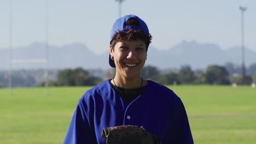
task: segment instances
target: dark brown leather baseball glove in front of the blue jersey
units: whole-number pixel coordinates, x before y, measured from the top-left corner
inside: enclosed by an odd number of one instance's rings
[[[116,127],[103,128],[101,136],[107,144],[160,144],[156,135],[151,134],[143,127],[135,125],[120,125]]]

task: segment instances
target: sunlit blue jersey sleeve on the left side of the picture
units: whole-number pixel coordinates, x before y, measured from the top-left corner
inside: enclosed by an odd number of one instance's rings
[[[89,122],[84,109],[86,109],[86,105],[82,105],[79,100],[63,143],[92,143]]]

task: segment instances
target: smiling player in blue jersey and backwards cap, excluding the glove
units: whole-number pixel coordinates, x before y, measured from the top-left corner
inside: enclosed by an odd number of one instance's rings
[[[146,23],[136,15],[115,21],[109,45],[115,76],[79,100],[64,143],[106,143],[102,129],[117,125],[143,126],[162,143],[193,143],[181,99],[141,77],[151,40]]]

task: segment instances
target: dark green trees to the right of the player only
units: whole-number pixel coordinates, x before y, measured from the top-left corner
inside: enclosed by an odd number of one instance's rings
[[[148,71],[155,71],[148,73]],[[167,73],[160,73],[156,67],[147,66],[142,70],[142,77],[144,79],[151,79],[163,85],[230,85],[236,83],[241,85],[242,75],[230,75],[229,71],[220,65],[209,65],[205,70],[193,71],[189,65],[183,65],[178,70],[168,71]],[[246,76],[246,85],[256,82],[256,74],[253,76]]]

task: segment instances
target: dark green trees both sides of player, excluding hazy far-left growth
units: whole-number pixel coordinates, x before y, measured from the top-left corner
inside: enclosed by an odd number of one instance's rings
[[[256,64],[255,64],[256,66]],[[256,67],[255,67],[256,68]],[[235,71],[233,71],[235,72]],[[56,81],[50,81],[50,86],[93,86],[106,79],[112,79],[115,69],[106,71],[104,78],[89,75],[83,68],[65,69],[59,71]],[[157,67],[147,65],[141,70],[145,80],[153,80],[162,85],[241,85],[241,74],[230,75],[229,70],[221,65],[209,65],[205,70],[192,70],[189,65],[183,65],[178,70],[161,71]],[[256,71],[253,76],[246,76],[246,85],[256,82]]]

